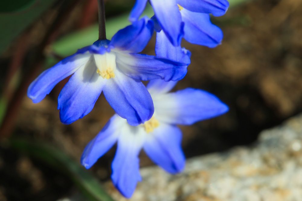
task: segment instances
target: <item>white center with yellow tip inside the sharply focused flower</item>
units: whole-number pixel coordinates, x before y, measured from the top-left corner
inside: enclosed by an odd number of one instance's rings
[[[94,54],[94,61],[97,67],[96,72],[104,79],[114,78],[116,69],[115,54],[105,53],[103,55]]]

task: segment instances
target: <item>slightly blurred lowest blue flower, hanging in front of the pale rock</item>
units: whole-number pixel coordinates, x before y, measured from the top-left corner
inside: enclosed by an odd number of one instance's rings
[[[191,125],[228,111],[217,97],[203,90],[187,88],[168,93],[175,84],[175,81],[151,80],[147,88],[153,98],[153,117],[144,124],[131,126],[114,115],[83,152],[81,163],[90,168],[117,142],[111,179],[127,198],[141,181],[138,157],[141,149],[165,171],[176,174],[183,170],[185,156],[181,148],[182,132],[175,125]]]

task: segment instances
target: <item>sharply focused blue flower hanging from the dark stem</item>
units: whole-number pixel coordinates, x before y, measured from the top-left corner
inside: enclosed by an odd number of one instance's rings
[[[153,21],[144,17],[118,31],[109,40],[100,40],[79,49],[50,69],[28,88],[27,96],[40,102],[53,87],[73,74],[58,97],[60,119],[71,124],[87,115],[101,92],[130,125],[149,120],[154,111],[151,96],[140,80],[180,80],[188,64],[137,54],[153,34]]]

